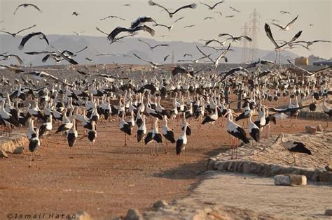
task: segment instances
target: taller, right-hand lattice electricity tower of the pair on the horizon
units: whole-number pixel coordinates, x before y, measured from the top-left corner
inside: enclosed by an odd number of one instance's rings
[[[250,52],[250,59],[251,61],[254,61],[256,59],[258,59],[258,53],[257,53],[257,49],[258,49],[258,32],[259,32],[259,27],[260,27],[260,23],[259,23],[259,19],[261,18],[261,15],[257,13],[256,8],[254,8],[254,12],[250,14],[250,32],[251,32],[251,39],[252,39],[252,43],[251,43],[251,52]]]

